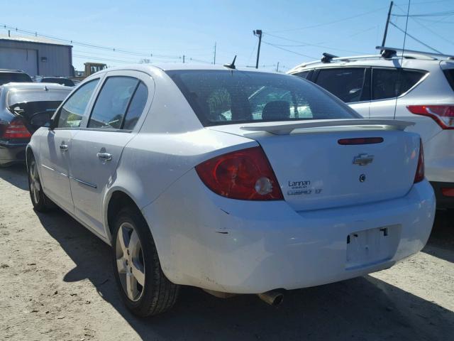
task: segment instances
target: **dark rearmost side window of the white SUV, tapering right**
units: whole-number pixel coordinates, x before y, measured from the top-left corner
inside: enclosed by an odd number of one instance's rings
[[[400,96],[410,90],[425,72],[402,69],[372,70],[372,99],[387,99]]]

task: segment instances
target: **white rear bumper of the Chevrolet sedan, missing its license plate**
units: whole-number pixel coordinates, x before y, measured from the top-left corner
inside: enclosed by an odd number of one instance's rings
[[[226,199],[211,193],[192,171],[144,207],[143,214],[170,281],[262,293],[389,268],[426,244],[435,203],[431,185],[423,180],[399,199],[295,212],[285,201]],[[348,235],[380,227],[392,227],[387,255],[348,261]]]

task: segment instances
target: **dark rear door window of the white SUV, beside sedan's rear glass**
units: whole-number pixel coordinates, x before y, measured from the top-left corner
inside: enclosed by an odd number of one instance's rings
[[[334,94],[343,102],[360,102],[364,86],[365,68],[343,67],[321,69],[316,84]]]

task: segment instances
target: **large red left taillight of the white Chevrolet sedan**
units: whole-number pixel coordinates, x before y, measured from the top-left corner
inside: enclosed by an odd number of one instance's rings
[[[218,195],[240,200],[282,200],[270,162],[260,147],[233,151],[196,166],[206,187]]]

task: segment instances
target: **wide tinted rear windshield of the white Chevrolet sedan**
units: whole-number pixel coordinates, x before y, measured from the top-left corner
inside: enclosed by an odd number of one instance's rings
[[[359,114],[300,77],[239,70],[167,71],[204,126],[353,119]]]

